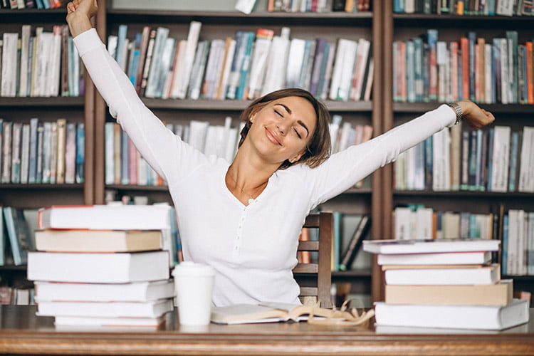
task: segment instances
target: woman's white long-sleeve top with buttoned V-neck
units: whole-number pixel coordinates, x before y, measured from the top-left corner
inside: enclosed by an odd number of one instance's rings
[[[112,117],[167,182],[184,260],[215,268],[216,306],[266,300],[300,303],[291,270],[310,210],[455,120],[453,110],[441,105],[332,155],[317,168],[296,164],[278,170],[255,201],[245,206],[226,187],[230,163],[204,155],[167,130],[142,103],[94,28],[74,42]]]

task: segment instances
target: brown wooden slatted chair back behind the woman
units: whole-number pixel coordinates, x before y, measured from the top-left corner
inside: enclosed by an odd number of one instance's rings
[[[318,229],[318,241],[299,241],[298,251],[318,251],[318,263],[298,263],[293,275],[300,285],[300,297],[307,301],[320,301],[323,308],[332,308],[331,254],[333,240],[333,214],[321,211],[306,217],[304,226]],[[309,286],[311,285],[311,286]]]

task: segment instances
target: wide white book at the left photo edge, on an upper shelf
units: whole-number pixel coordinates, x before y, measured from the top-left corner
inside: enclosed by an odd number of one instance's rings
[[[4,32],[1,58],[0,96],[16,96],[19,33]]]

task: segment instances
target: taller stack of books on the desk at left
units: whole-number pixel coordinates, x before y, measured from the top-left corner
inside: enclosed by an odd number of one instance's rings
[[[51,206],[28,253],[38,315],[56,325],[157,326],[174,308],[169,206]]]

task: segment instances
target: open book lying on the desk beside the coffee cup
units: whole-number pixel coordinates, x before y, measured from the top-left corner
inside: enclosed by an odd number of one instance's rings
[[[277,323],[308,320],[313,316],[328,318],[333,310],[290,303],[262,302],[211,308],[211,322],[217,324]]]

